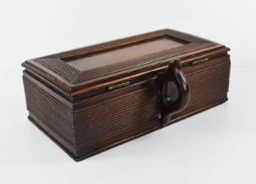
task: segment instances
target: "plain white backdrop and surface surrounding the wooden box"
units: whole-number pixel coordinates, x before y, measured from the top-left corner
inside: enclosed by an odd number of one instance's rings
[[[1,0],[0,183],[256,183],[256,4]],[[75,162],[27,120],[27,59],[172,28],[231,47],[228,103]]]

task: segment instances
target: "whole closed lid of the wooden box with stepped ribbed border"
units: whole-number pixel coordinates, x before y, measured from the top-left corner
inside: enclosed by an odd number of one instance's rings
[[[186,62],[198,53],[217,49],[227,50],[209,40],[166,29],[26,60],[22,66],[68,96],[79,96],[88,88],[165,67],[173,58]]]

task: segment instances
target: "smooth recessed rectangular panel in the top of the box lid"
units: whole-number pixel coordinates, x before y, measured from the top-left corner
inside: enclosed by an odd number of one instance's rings
[[[126,46],[118,46],[107,51],[103,50],[101,53],[92,53],[81,56],[78,55],[76,57],[64,58],[62,60],[66,61],[68,65],[83,72],[98,67],[112,65],[122,60],[132,60],[144,55],[158,53],[170,48],[183,46],[187,43],[177,39],[174,40],[171,37],[162,36],[157,39],[141,41],[140,43],[137,42]]]

